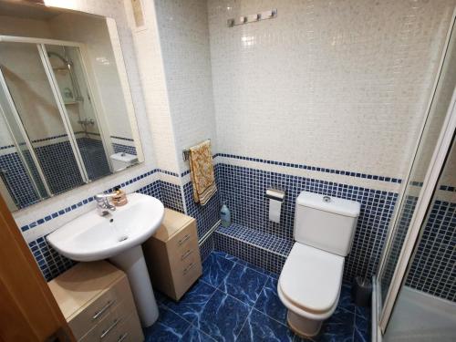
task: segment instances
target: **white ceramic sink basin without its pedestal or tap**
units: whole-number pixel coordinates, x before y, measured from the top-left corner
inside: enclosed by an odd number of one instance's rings
[[[129,202],[101,217],[87,212],[56,232],[47,241],[58,253],[76,261],[108,259],[142,244],[160,227],[163,204],[154,197],[131,193]]]

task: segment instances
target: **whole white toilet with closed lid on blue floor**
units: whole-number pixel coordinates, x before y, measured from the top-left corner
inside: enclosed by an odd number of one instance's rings
[[[288,325],[300,336],[316,336],[336,310],[360,207],[313,192],[301,192],[296,199],[295,244],[277,292],[288,309]]]

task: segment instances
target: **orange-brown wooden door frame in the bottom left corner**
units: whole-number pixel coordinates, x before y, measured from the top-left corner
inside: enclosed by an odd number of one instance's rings
[[[0,303],[0,342],[76,341],[1,195]]]

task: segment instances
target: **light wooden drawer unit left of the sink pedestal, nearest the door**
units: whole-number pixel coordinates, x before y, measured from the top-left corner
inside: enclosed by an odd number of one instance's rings
[[[144,340],[129,280],[112,264],[79,263],[48,285],[78,341]]]

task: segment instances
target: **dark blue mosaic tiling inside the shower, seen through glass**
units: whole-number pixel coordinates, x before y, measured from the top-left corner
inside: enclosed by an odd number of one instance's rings
[[[454,171],[454,169],[452,170]],[[418,193],[420,188],[417,187],[414,190]],[[388,263],[380,278],[383,296],[389,289],[417,200],[418,196],[407,196],[399,215],[399,224],[390,244]],[[422,229],[416,254],[412,256],[409,265],[406,285],[456,302],[456,275],[454,273],[456,264],[454,250],[456,188],[454,186],[441,185],[440,189],[435,192]]]

